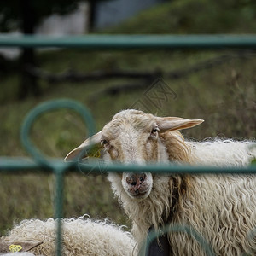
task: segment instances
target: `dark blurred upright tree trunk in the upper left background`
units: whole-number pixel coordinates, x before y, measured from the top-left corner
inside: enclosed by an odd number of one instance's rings
[[[34,10],[32,0],[20,0],[20,10],[22,11],[21,29],[23,34],[34,33]],[[20,55],[20,89],[19,99],[24,99],[30,93],[32,96],[39,96],[38,79],[27,73],[27,67],[35,66],[35,54],[33,48],[23,48]]]

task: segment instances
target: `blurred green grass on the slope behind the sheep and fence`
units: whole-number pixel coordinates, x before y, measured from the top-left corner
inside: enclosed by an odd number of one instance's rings
[[[109,33],[220,33],[255,32],[256,11],[253,1],[179,0],[149,9],[137,17],[108,29]],[[196,63],[216,60],[227,55],[225,61],[202,68],[201,71],[171,79],[163,75],[166,86],[175,96],[158,101],[150,98],[159,93],[159,83],[148,92],[145,89],[120,94],[100,94],[113,85],[135,84],[133,79],[108,79],[90,83],[47,84],[40,81],[44,95],[16,101],[19,75],[9,71],[1,74],[0,88],[0,155],[26,156],[20,145],[20,125],[26,113],[39,102],[56,98],[72,98],[83,102],[96,120],[98,130],[120,109],[130,108],[140,100],[148,111],[159,115],[205,119],[203,125],[184,131],[186,137],[255,137],[255,52],[239,50],[129,50],[89,52],[83,49],[61,49],[38,52],[38,62],[44,70],[61,73],[73,68],[79,72],[96,70],[154,72],[186,70]],[[13,66],[12,66],[13,67]],[[148,94],[149,93],[149,94]],[[148,97],[152,102],[148,102]],[[158,95],[160,96],[160,95]],[[163,94],[161,94],[163,97]],[[135,104],[136,105],[136,104]],[[144,107],[143,107],[144,106]],[[64,156],[82,143],[86,127],[79,117],[67,110],[48,113],[38,119],[32,129],[32,141],[50,157]],[[26,175],[0,174],[0,233],[22,218],[53,217],[55,194],[54,177],[39,172]],[[110,218],[127,224],[125,213],[113,199],[105,176],[69,174],[65,177],[65,217],[85,213],[92,218]]]

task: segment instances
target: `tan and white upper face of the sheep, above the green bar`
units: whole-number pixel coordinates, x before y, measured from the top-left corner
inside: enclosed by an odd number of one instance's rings
[[[133,119],[119,115],[102,129],[101,144],[106,158],[138,165],[158,160],[159,127],[154,119],[142,119],[139,114]]]

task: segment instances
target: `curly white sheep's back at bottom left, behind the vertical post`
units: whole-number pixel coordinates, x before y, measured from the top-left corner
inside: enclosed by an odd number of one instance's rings
[[[9,245],[17,244],[34,255],[55,255],[56,224],[53,218],[45,221],[26,219],[15,225],[0,240],[0,254],[9,252]],[[133,255],[136,252],[131,233],[109,221],[90,218],[64,218],[62,224],[62,255]],[[30,246],[30,247],[29,247]],[[2,250],[1,250],[2,249]],[[21,256],[22,254],[20,254]],[[18,254],[17,254],[18,256]],[[26,253],[24,254],[26,256]],[[31,256],[27,254],[27,256]]]

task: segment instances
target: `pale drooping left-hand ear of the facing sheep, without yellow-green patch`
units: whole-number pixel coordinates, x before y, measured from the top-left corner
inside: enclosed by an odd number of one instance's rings
[[[90,147],[94,148],[93,147],[94,145],[99,145],[101,143],[101,138],[102,138],[102,131],[99,131],[92,137],[89,137],[88,139],[86,139],[84,143],[82,143],[78,148],[74,148],[71,152],[69,152],[64,160],[65,161],[81,160],[84,157],[87,157],[88,152],[86,152],[85,148],[90,148]]]

